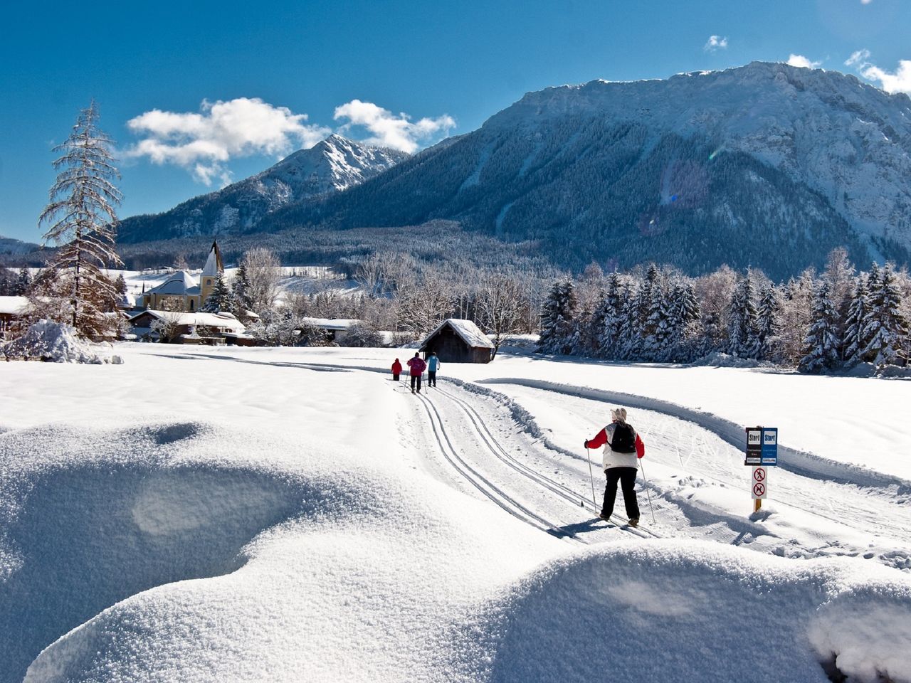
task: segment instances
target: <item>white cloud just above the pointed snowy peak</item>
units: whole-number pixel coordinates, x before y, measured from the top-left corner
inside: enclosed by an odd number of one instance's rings
[[[359,99],[335,107],[334,118],[336,121],[348,119],[348,123],[339,127],[340,133],[348,134],[352,127],[361,126],[371,135],[363,142],[408,153],[417,150],[419,141],[445,136],[455,127],[455,119],[446,114],[442,117],[422,118],[413,123],[407,114],[395,116],[383,107]]]

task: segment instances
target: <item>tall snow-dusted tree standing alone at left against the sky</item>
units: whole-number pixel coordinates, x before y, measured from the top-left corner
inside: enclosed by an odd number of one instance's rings
[[[119,178],[109,148],[113,144],[97,128],[93,101],[77,118],[69,138],[54,150],[59,173],[50,189],[50,203],[38,219],[48,225],[45,242],[63,243],[48,263],[56,281],[67,291],[67,320],[85,336],[113,331],[116,321],[106,311],[116,308],[117,291],[103,269],[122,265],[114,250],[115,206]]]

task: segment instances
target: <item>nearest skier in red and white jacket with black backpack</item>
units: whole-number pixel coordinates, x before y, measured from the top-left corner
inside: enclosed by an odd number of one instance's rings
[[[614,511],[617,498],[617,482],[623,489],[623,503],[626,505],[630,526],[639,524],[639,502],[636,500],[636,470],[639,458],[645,455],[645,444],[631,424],[626,421],[626,408],[614,408],[610,411],[610,424],[602,429],[594,439],[585,442],[586,448],[604,446],[602,463],[608,485],[604,488],[604,505],[601,507],[601,519],[608,520]]]

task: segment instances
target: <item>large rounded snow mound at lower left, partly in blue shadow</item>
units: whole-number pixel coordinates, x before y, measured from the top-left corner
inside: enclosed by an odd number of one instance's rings
[[[0,682],[477,679],[477,596],[562,547],[488,515],[298,434],[5,432]]]

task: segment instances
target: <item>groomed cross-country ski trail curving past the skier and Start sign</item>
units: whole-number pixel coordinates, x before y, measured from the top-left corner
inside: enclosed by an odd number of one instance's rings
[[[387,374],[387,368],[345,365],[337,363],[302,363],[302,362],[262,362],[247,359],[238,359],[228,355],[213,356],[210,354],[186,354],[182,357],[204,357],[212,360],[230,360],[238,362],[252,362],[265,365],[282,367],[297,367],[305,370],[329,372],[377,372]],[[175,355],[175,357],[179,357]],[[753,550],[765,553],[774,553],[783,556],[814,557],[831,555],[848,555],[873,557],[874,552],[867,551],[859,543],[854,545],[842,539],[831,539],[817,533],[816,545],[808,544],[805,540],[801,543],[797,539],[775,535],[763,525],[768,512],[761,511],[758,515],[732,514],[721,509],[711,502],[706,502],[695,496],[690,489],[698,489],[703,485],[732,487],[741,485],[743,479],[742,442],[743,427],[724,420],[711,413],[702,413],[675,403],[647,396],[638,396],[624,392],[610,392],[586,387],[576,387],[556,382],[527,380],[522,378],[495,378],[482,382],[465,382],[456,378],[441,378],[442,382],[451,384],[455,391],[462,390],[466,393],[464,398],[459,398],[454,391],[436,390],[435,393],[445,399],[445,402],[435,402],[429,398],[427,390],[416,398],[424,405],[427,419],[431,423],[435,436],[435,447],[442,454],[448,466],[455,471],[460,480],[466,481],[477,491],[492,500],[495,505],[504,509],[510,515],[517,516],[527,524],[536,526],[542,531],[553,535],[568,538],[582,543],[594,540],[608,540],[602,531],[623,531],[623,535],[638,535],[640,537],[662,537],[663,535],[684,535],[694,538],[708,538],[717,542],[744,545]],[[404,384],[404,382],[403,382]],[[562,394],[571,398],[598,403],[622,403],[630,408],[648,411],[650,413],[648,430],[643,430],[643,437],[650,442],[650,449],[659,449],[665,453],[673,453],[681,465],[681,472],[670,474],[670,479],[675,480],[676,487],[668,488],[656,482],[639,484],[640,492],[644,492],[650,500],[640,501],[642,517],[646,518],[645,506],[657,504],[654,507],[656,525],[650,528],[640,525],[632,529],[627,525],[619,526],[613,522],[599,524],[597,516],[594,519],[579,522],[578,515],[570,517],[575,521],[568,524],[558,524],[553,519],[563,520],[567,512],[562,509],[572,506],[573,512],[591,510],[598,512],[598,505],[589,501],[588,484],[585,482],[587,466],[585,457],[561,447],[546,435],[536,422],[534,414],[529,412],[515,399],[486,388],[481,384],[513,385],[539,392]],[[408,392],[404,384],[404,392]],[[495,436],[481,413],[471,404],[470,397],[476,397],[485,403],[484,410],[491,413],[491,409],[508,413],[507,420],[518,432],[531,438],[530,443],[520,443],[519,449],[527,449],[534,456],[535,466],[521,463],[510,455],[510,449],[503,441],[515,441],[516,430],[512,434],[502,433]],[[457,433],[453,428],[445,426],[451,422],[445,419],[444,413],[449,408],[445,403],[455,408],[458,419],[464,423],[468,435]],[[491,406],[490,403],[494,403]],[[579,414],[590,416],[594,412],[584,409]],[[685,455],[681,451],[681,433],[695,433],[694,447]],[[707,438],[708,437],[708,438]],[[462,441],[467,439],[467,442]],[[719,440],[722,443],[710,443]],[[480,446],[483,458],[476,456],[476,462],[468,462],[472,451]],[[730,451],[724,453],[724,451]],[[857,535],[870,535],[870,528],[887,532],[888,541],[904,539],[911,535],[911,506],[904,505],[908,494],[911,493],[911,483],[896,476],[878,473],[855,464],[844,464],[828,460],[815,454],[796,451],[779,444],[778,472],[774,474],[774,487],[776,499],[786,500],[786,505],[805,515],[814,515],[830,523],[842,525],[851,529]],[[597,461],[597,458],[595,458]],[[491,465],[495,465],[494,468]],[[655,465],[659,467],[658,464]],[[494,473],[493,469],[506,468],[508,476]],[[574,479],[578,488],[570,488],[547,474],[543,470],[553,470]],[[596,463],[601,476],[600,466]],[[698,474],[692,474],[697,472]],[[521,484],[517,484],[521,480]],[[603,484],[601,484],[603,486]],[[523,489],[524,487],[524,489]],[[543,502],[538,495],[534,505],[543,505],[541,510],[528,503],[534,494],[529,494],[529,487],[537,489],[537,493],[546,492],[549,500]],[[599,493],[598,489],[596,492]],[[653,494],[653,495],[652,495]],[[748,495],[744,492],[744,496]],[[899,497],[903,496],[903,497]],[[695,497],[695,500],[693,498]],[[570,502],[574,501],[574,502]],[[871,506],[875,501],[877,505],[890,506],[889,514],[883,515]],[[558,510],[555,510],[558,504]],[[581,504],[581,505],[579,505]],[[622,510],[622,495],[618,496],[615,515]],[[853,525],[851,523],[854,523]],[[596,526],[596,524],[599,524]],[[598,532],[594,536],[593,532]],[[813,535],[812,529],[803,529],[804,533]],[[588,538],[578,536],[586,533]],[[616,533],[609,534],[610,538],[618,537]],[[589,538],[592,541],[589,541]],[[869,544],[869,547],[874,547]],[[899,569],[911,569],[911,548],[885,548],[881,549],[879,561],[887,566]]]

